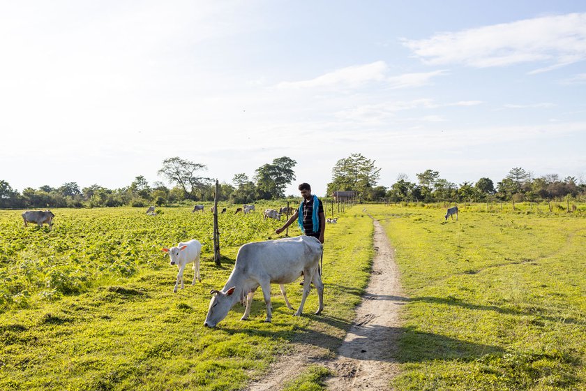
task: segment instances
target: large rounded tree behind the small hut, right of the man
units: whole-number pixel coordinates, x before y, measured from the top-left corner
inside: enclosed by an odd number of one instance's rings
[[[376,186],[380,178],[380,168],[375,162],[362,154],[351,154],[338,160],[332,169],[328,193],[353,190],[358,192],[359,198],[366,196],[367,189]]]

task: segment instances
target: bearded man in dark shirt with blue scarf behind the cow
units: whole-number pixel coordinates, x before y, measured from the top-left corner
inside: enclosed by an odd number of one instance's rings
[[[278,228],[275,232],[278,234],[282,233],[285,228],[296,220],[303,235],[317,237],[323,243],[324,231],[326,230],[324,205],[316,195],[311,194],[311,186],[309,184],[300,184],[299,191],[301,191],[301,196],[303,197],[299,209],[287,220],[283,227]]]

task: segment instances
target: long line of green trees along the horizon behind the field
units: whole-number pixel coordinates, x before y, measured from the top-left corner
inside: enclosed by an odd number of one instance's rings
[[[374,202],[488,202],[559,200],[586,198],[586,184],[575,177],[561,179],[557,174],[534,177],[523,168],[513,168],[495,185],[488,177],[456,185],[440,177],[440,172],[426,170],[416,174],[411,182],[400,174],[391,186],[378,184],[380,168],[374,160],[362,154],[351,154],[336,162],[327,195],[333,191],[354,191],[356,200]],[[255,170],[252,178],[238,173],[232,183],[220,184],[220,201],[234,204],[255,200],[276,200],[285,197],[285,189],[295,179],[296,161],[287,156],[274,159]],[[0,180],[0,208],[45,207],[145,207],[147,205],[177,205],[213,201],[215,183],[205,177],[206,165],[173,157],[163,161],[158,175],[166,180],[149,184],[140,175],[120,189],[107,189],[98,184],[80,189],[76,182],[59,187],[40,186],[15,191],[8,182]]]

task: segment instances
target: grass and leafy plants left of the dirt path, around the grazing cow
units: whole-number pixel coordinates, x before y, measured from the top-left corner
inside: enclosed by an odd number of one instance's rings
[[[0,211],[0,390],[241,389],[294,342],[333,354],[373,256],[370,219],[340,219],[326,231],[321,316],[312,314],[314,290],[307,315],[295,318],[275,287],[273,323],[263,322],[257,297],[250,320],[240,321],[236,306],[209,330],[209,290],[223,286],[239,245],[276,239],[282,222],[262,221],[260,212],[220,215],[223,260],[216,267],[209,212],[56,209],[52,231],[24,228],[21,212]],[[176,267],[160,249],[191,238],[204,243],[202,283],[173,294]],[[190,273],[188,267],[187,281]],[[301,289],[287,286],[294,307]],[[302,388],[324,373],[304,376],[296,383]]]

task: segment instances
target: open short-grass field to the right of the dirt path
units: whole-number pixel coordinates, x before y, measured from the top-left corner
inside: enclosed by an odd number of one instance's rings
[[[406,293],[396,389],[586,389],[583,205],[367,209]]]

